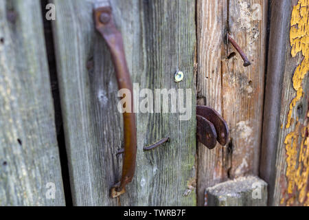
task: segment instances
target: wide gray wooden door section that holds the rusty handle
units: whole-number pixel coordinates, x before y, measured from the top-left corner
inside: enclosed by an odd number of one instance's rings
[[[74,205],[194,206],[194,1],[111,1],[133,83],[139,83],[140,89],[192,89],[190,120],[180,121],[179,113],[137,113],[137,169],[120,199],[111,199],[108,190],[121,174],[122,157],[116,154],[122,148],[122,115],[117,111],[113,63],[94,29],[94,1],[53,2]],[[179,84],[174,83],[176,70],[185,74]],[[170,137],[170,142],[143,151],[163,137]]]

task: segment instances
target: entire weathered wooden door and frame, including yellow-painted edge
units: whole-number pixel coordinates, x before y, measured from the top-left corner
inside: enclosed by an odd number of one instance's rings
[[[135,176],[117,199],[123,119],[97,1],[0,0],[1,206],[308,205],[308,1],[110,1],[137,104]],[[150,94],[159,111],[139,108]],[[225,118],[227,146],[198,142],[197,104]]]

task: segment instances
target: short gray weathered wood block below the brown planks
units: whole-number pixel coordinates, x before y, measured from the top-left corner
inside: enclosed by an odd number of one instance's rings
[[[258,177],[239,177],[206,190],[206,206],[266,206],[267,184]]]

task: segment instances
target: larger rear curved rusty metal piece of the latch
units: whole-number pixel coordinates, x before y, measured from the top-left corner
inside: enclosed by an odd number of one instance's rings
[[[203,105],[196,106],[196,115],[203,116],[209,120],[209,122],[214,124],[218,135],[217,140],[222,146],[225,146],[229,140],[229,127],[222,116],[211,107],[206,107]]]

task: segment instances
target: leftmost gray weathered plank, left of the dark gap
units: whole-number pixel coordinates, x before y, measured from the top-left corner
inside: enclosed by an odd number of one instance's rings
[[[1,0],[0,39],[0,206],[64,206],[40,1]]]

